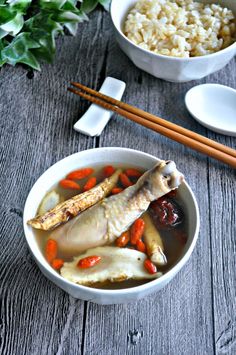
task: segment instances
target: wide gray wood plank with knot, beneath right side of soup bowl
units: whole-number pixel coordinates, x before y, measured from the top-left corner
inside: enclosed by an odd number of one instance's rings
[[[173,84],[152,78],[134,68],[112,40],[106,75],[127,82],[125,102],[206,134],[183,102],[185,92],[196,82]],[[165,289],[129,305],[89,303],[85,354],[214,353],[210,227],[205,221],[210,203],[208,158],[117,116],[106,127],[100,145],[119,145],[175,160],[201,203],[202,227],[193,256]]]

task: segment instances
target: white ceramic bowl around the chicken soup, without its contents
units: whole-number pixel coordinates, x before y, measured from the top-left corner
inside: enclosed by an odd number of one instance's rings
[[[141,286],[120,290],[103,290],[76,285],[65,280],[47,263],[37,244],[33,229],[27,225],[27,221],[35,216],[39,203],[45,193],[71,170],[84,166],[94,166],[98,163],[102,165],[107,163],[131,164],[139,166],[140,168],[149,169],[153,167],[157,161],[158,159],[152,155],[127,148],[91,149],[75,153],[60,160],[36,181],[25,203],[24,232],[36,263],[48,279],[75,298],[92,301],[98,304],[115,304],[136,301],[152,292],[156,292],[163,288],[175,276],[189,259],[199,232],[199,211],[197,202],[192,190],[186,182],[183,182],[179,188],[180,196],[185,207],[185,213],[187,213],[189,221],[188,241],[183,256],[178,263],[161,278]]]

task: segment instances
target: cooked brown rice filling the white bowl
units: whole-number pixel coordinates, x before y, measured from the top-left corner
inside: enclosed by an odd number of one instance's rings
[[[157,54],[197,57],[235,41],[235,17],[217,4],[193,0],[139,0],[125,21],[125,35]]]

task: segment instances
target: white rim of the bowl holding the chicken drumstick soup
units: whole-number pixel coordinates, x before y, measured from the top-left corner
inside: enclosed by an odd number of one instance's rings
[[[46,277],[48,277],[48,274],[50,274],[52,276],[52,281],[55,281],[57,283],[57,285],[64,285],[64,286],[68,286],[68,287],[73,287],[76,288],[77,290],[84,290],[87,291],[88,293],[92,295],[128,295],[128,294],[132,294],[134,292],[142,292],[145,290],[148,290],[149,288],[153,288],[155,286],[161,285],[162,283],[165,284],[167,283],[170,279],[172,279],[175,274],[183,267],[183,265],[188,261],[190,255],[192,254],[192,251],[195,247],[195,244],[197,242],[197,238],[198,238],[198,234],[199,234],[199,228],[200,228],[200,216],[199,216],[199,208],[198,208],[198,204],[196,201],[196,198],[194,196],[193,191],[191,190],[190,186],[188,185],[188,183],[184,180],[183,185],[185,185],[185,187],[187,188],[188,192],[191,195],[192,198],[192,202],[195,208],[195,214],[196,214],[196,221],[195,222],[195,230],[194,230],[194,235],[192,237],[192,240],[187,248],[187,250],[185,251],[184,255],[180,257],[180,259],[178,260],[178,262],[169,270],[167,271],[165,274],[163,274],[160,278],[154,279],[154,280],[150,280],[142,285],[139,286],[134,286],[134,287],[130,287],[130,288],[122,288],[122,289],[100,289],[100,288],[92,288],[89,286],[84,286],[84,285],[79,285],[76,284],[74,282],[68,281],[65,278],[63,278],[57,271],[55,271],[46,261],[46,259],[44,258],[44,256],[42,255],[41,257],[39,257],[36,253],[36,251],[34,250],[34,248],[32,247],[32,238],[34,238],[35,240],[35,234],[33,232],[33,228],[31,226],[29,226],[27,224],[27,220],[29,219],[28,215],[29,215],[29,208],[31,205],[31,199],[33,197],[33,194],[35,193],[35,190],[37,190],[37,185],[39,184],[40,180],[43,179],[45,177],[46,174],[49,174],[51,171],[53,171],[54,169],[56,169],[58,166],[63,165],[63,163],[65,163],[68,160],[73,160],[75,157],[79,156],[81,157],[83,154],[86,155],[88,153],[91,152],[91,154],[94,153],[99,153],[99,152],[104,152],[104,151],[122,151],[122,152],[127,152],[127,153],[132,153],[132,154],[137,154],[140,156],[140,158],[151,158],[152,160],[154,159],[156,162],[160,161],[159,158],[155,157],[154,155],[139,151],[139,150],[135,150],[135,149],[130,149],[130,148],[120,148],[120,147],[103,147],[103,148],[92,148],[92,149],[86,149],[80,152],[76,152],[74,154],[71,154],[59,161],[57,161],[55,164],[53,164],[52,166],[50,166],[43,174],[40,175],[40,177],[36,180],[36,182],[34,183],[33,187],[31,188],[28,197],[26,199],[25,202],[25,207],[24,207],[24,213],[23,213],[23,226],[24,226],[24,235],[28,244],[28,247],[34,257],[34,259],[36,260],[37,264],[39,265],[40,270],[43,272],[42,269],[44,269],[47,273]],[[100,162],[98,162],[100,163]],[[56,182],[56,181],[55,181]],[[43,197],[43,196],[42,196]],[[31,217],[33,218],[33,217]]]

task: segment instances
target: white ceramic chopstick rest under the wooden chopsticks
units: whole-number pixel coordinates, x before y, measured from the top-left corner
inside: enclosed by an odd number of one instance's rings
[[[118,79],[107,77],[99,92],[120,100],[126,84]],[[85,114],[74,124],[74,129],[90,137],[100,136],[114,112],[92,104]]]

